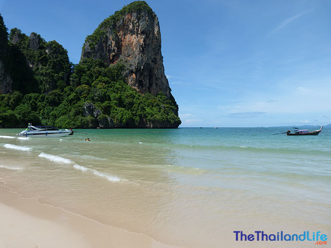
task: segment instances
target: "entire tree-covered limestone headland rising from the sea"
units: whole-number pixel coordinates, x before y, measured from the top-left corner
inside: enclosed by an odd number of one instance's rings
[[[177,128],[159,21],[134,1],[88,35],[79,64],[55,40],[8,34],[0,15],[0,128]]]

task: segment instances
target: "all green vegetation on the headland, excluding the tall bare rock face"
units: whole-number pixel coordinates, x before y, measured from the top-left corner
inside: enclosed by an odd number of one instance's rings
[[[10,51],[2,59],[9,65],[13,92],[0,94],[0,127],[25,127],[30,122],[59,128],[181,124],[175,99],[163,92],[155,96],[131,88],[123,77],[125,64],[108,67],[88,58],[74,65],[56,41],[46,42],[36,33],[27,36],[17,28],[8,35],[1,20],[0,38]]]

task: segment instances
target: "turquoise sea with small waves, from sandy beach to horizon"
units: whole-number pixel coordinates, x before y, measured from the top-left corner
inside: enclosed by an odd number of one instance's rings
[[[236,246],[234,230],[331,237],[331,129],[273,135],[286,130],[77,129],[88,135],[17,138],[20,129],[0,129],[0,181],[169,245]]]

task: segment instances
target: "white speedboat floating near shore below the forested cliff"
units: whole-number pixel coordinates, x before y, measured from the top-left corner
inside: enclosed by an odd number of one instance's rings
[[[21,131],[18,136],[21,137],[63,137],[71,135],[72,130],[59,130],[53,126],[33,126],[29,125],[28,128]]]

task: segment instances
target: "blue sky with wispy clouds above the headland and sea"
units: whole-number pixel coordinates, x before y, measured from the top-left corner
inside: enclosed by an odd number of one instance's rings
[[[10,30],[56,40],[78,63],[85,37],[131,1],[0,0]],[[331,123],[331,1],[147,0],[181,126]]]

